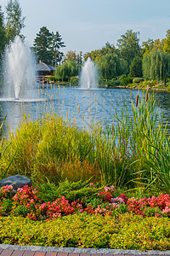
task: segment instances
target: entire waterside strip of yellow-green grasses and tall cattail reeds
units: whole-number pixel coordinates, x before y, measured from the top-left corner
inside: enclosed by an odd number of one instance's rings
[[[158,154],[157,148],[167,150],[167,125],[163,125],[154,94],[138,96],[138,104],[132,100],[132,115],[128,108],[124,103],[112,125],[92,125],[90,131],[79,130],[54,114],[35,121],[25,116],[15,134],[9,132],[3,142],[3,148],[11,145],[3,154],[0,174],[18,148],[8,175],[25,174],[54,183],[91,177],[95,182],[128,188],[153,182],[157,174],[153,176],[148,160]]]

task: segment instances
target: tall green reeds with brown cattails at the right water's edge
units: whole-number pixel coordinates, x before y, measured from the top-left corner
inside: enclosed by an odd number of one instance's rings
[[[156,107],[156,95],[148,97],[144,94],[141,98],[138,95],[135,103],[131,101],[131,107],[132,116],[124,104],[121,116],[116,113],[113,125],[107,126],[106,131],[102,130],[101,137],[111,148],[109,162],[112,162],[109,170],[102,170],[104,177],[112,177],[118,184],[120,181],[123,185],[131,182],[132,186],[133,181],[134,187],[140,187],[151,180],[146,160],[150,159],[150,154],[156,154],[160,142],[167,139],[167,125],[163,125],[161,108]],[[144,169],[148,171],[141,172]]]

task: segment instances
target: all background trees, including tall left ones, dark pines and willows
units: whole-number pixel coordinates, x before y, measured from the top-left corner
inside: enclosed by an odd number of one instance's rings
[[[0,5],[0,54],[16,36],[25,40],[21,30],[26,17],[22,15],[18,0],[8,1],[5,14],[6,19]],[[166,38],[162,40],[149,38],[139,44],[139,32],[130,29],[117,40],[116,46],[107,42],[101,49],[85,54],[70,50],[64,55],[61,50],[64,47],[65,42],[59,32],[50,32],[47,26],[40,28],[31,47],[37,62],[43,61],[55,67],[54,75],[59,80],[77,76],[88,57],[99,68],[100,78],[105,81],[144,78],[166,82],[170,77],[170,30],[167,30]]]

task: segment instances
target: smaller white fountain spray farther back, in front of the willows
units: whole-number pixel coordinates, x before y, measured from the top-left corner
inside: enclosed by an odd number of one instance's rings
[[[82,89],[92,89],[98,86],[97,68],[90,58],[88,58],[88,61],[82,66],[80,83]]]

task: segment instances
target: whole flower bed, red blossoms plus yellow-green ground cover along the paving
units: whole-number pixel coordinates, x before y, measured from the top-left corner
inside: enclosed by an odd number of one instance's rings
[[[96,190],[94,183],[88,189]],[[38,188],[0,190],[0,241],[18,245],[170,249],[170,196],[141,199],[100,189],[91,203],[64,195],[42,201]],[[88,202],[88,203],[87,203]]]

